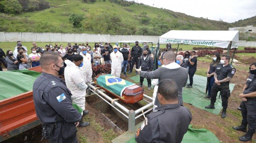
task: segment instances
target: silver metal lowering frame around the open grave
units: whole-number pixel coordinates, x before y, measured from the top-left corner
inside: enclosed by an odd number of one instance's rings
[[[117,102],[117,100],[112,99],[111,97],[109,97],[107,94],[103,93],[100,89],[97,88],[97,86],[93,86],[92,84],[94,84],[94,82],[91,83],[87,83],[87,85],[90,87],[89,90],[91,90],[91,92],[95,93],[97,96],[99,96],[101,99],[103,99],[105,102],[107,102],[109,105],[111,105],[116,111],[118,111],[120,114],[122,114],[125,118],[128,119],[128,131],[130,133],[133,133],[135,131],[135,119],[139,118],[140,116],[143,115],[143,113],[141,113],[143,110],[146,110],[148,108],[150,108],[153,105],[153,98],[149,97],[148,95],[143,94],[144,98],[149,99],[152,102],[149,102],[147,105],[141,107],[140,109],[137,109],[136,111],[134,110],[128,110],[127,108],[125,108],[123,105],[121,105],[120,103]],[[105,97],[105,98],[103,98]],[[109,100],[109,101],[107,101]],[[121,110],[119,110],[118,108]],[[148,113],[152,110],[153,108],[150,108],[148,110],[146,110],[144,113]],[[140,115],[137,115],[141,113]],[[137,115],[137,116],[136,116]]]

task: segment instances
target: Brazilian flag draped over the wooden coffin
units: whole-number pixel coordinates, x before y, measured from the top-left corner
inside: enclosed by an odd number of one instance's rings
[[[97,84],[108,89],[112,93],[122,97],[122,93],[126,87],[135,85],[132,82],[122,78],[113,76],[111,74],[101,75],[97,78]]]

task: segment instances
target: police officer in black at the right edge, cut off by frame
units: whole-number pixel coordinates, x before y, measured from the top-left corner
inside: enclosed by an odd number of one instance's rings
[[[256,63],[251,65],[251,75],[247,78],[246,84],[243,88],[241,111],[242,111],[242,124],[238,127],[233,127],[235,130],[246,132],[248,124],[248,132],[239,137],[240,141],[250,141],[256,129]]]

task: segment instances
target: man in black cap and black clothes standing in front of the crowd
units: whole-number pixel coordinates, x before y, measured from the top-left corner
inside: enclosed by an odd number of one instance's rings
[[[136,62],[136,69],[139,68],[139,57],[142,55],[142,49],[139,46],[139,42],[136,41],[135,42],[135,46],[132,47],[131,50],[131,57],[132,57],[132,66],[130,67],[130,71],[128,73],[132,73],[132,69],[134,66],[134,63]],[[136,74],[138,74],[138,72],[135,72]]]

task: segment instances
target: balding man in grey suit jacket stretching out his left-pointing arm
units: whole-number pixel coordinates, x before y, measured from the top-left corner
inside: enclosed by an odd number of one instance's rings
[[[155,71],[141,71],[141,68],[136,69],[136,71],[140,72],[141,77],[149,79],[158,79],[159,82],[162,79],[173,79],[178,85],[179,103],[183,105],[182,87],[185,87],[187,84],[188,70],[176,63],[176,54],[173,51],[165,52],[165,54],[162,56],[162,61],[165,67],[159,67]],[[157,100],[157,96],[154,105],[161,105]]]

